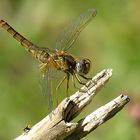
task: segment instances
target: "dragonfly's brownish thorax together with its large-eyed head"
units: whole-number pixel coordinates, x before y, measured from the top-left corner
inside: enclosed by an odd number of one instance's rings
[[[78,75],[86,75],[91,66],[91,61],[89,59],[75,59],[73,56],[67,52],[56,52],[51,57],[51,62],[55,61],[55,67],[57,70],[64,71],[66,73],[77,73]]]

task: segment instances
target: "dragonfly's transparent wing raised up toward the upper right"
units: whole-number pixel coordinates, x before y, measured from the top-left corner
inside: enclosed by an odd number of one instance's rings
[[[68,50],[73,45],[80,32],[95,16],[96,10],[88,9],[68,24],[56,41],[56,49],[65,51]]]

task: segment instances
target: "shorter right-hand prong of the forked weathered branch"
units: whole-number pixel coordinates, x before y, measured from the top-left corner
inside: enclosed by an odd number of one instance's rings
[[[129,98],[127,96],[120,95],[108,104],[98,108],[84,119],[81,119],[74,132],[68,136],[66,140],[79,140],[83,138],[98,126],[112,118],[128,102]]]

